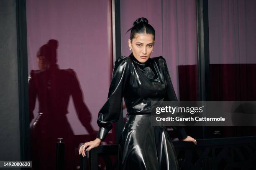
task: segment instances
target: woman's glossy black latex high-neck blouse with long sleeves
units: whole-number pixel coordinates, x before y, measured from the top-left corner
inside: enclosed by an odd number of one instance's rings
[[[122,99],[128,115],[150,114],[151,101],[173,101],[177,97],[163,57],[149,58],[141,63],[133,56],[120,57],[115,62],[113,78],[108,92],[108,100],[100,109],[97,124],[97,138],[104,140],[112,129],[112,122],[119,119]],[[179,139],[187,137],[183,127],[173,127]]]

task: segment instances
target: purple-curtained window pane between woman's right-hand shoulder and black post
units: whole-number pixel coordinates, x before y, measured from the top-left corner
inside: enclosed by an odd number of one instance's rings
[[[198,100],[194,0],[163,1],[163,55],[179,100]]]

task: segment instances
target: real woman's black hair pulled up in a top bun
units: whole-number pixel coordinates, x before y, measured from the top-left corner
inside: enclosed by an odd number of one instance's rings
[[[134,21],[133,27],[130,28],[128,31],[130,30],[131,30],[131,36],[130,36],[131,40],[133,40],[133,38],[135,37],[135,34],[141,34],[141,33],[152,34],[155,40],[156,32],[154,28],[150,24],[148,24],[147,18],[138,18],[136,21]]]

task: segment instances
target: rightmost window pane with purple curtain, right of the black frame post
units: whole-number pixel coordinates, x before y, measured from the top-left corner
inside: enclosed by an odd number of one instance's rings
[[[256,1],[208,0],[208,7],[210,100],[255,100]],[[220,137],[256,135],[255,127],[215,127],[208,134],[216,130]]]

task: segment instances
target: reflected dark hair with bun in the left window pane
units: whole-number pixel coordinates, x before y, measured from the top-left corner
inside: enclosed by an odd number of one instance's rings
[[[56,64],[58,44],[59,42],[57,40],[49,40],[45,45],[39,48],[37,57],[44,56],[47,63]]]

